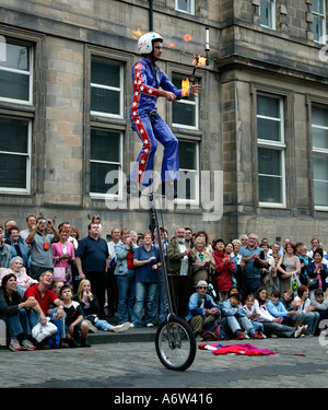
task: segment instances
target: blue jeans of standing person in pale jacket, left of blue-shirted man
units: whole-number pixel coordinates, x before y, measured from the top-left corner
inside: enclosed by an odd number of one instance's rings
[[[116,279],[118,288],[117,316],[118,324],[131,321],[136,297],[136,273],[129,270],[127,274],[118,274]]]

